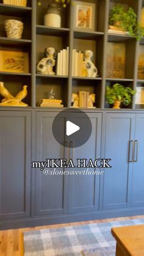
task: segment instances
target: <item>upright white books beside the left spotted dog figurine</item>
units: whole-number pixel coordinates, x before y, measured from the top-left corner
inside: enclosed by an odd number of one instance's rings
[[[57,56],[57,76],[68,76],[69,47],[62,49]]]

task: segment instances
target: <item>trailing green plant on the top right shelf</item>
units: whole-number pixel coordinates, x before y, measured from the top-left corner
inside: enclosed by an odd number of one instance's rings
[[[144,27],[137,23],[137,15],[131,7],[126,11],[123,5],[115,5],[110,10],[109,24],[129,32],[129,35],[137,40],[144,37]]]

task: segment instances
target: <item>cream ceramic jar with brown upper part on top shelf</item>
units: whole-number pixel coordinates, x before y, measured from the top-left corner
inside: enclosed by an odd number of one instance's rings
[[[61,26],[61,16],[60,9],[57,8],[56,4],[48,5],[48,12],[44,17],[44,24],[48,27],[60,27]]]

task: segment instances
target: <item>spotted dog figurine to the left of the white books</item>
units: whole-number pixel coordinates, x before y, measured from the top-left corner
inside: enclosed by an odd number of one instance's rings
[[[43,59],[37,64],[37,73],[54,76],[55,72],[53,71],[53,67],[56,65],[56,57],[56,49],[52,47],[46,48]]]

